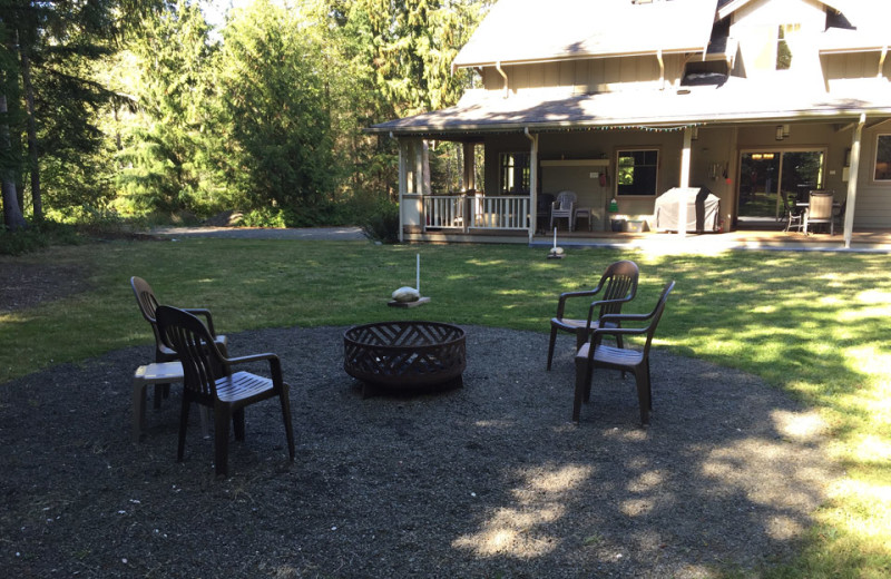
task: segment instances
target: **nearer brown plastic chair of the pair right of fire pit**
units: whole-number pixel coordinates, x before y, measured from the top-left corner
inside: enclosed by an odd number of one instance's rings
[[[591,396],[591,377],[595,367],[621,370],[633,372],[637,385],[637,402],[640,405],[640,423],[649,424],[649,411],[653,410],[653,391],[649,376],[649,347],[653,335],[659,324],[665,302],[674,290],[675,283],[668,282],[662,291],[656,307],[649,314],[607,314],[600,318],[601,326],[609,323],[611,327],[598,327],[591,335],[591,341],[584,344],[576,354],[576,396],[572,404],[572,421],[578,422],[581,412],[581,402],[588,402]],[[624,322],[646,322],[644,327],[621,327]],[[603,343],[603,337],[611,335],[616,338],[623,335],[645,335],[646,342],[642,350],[608,346]]]

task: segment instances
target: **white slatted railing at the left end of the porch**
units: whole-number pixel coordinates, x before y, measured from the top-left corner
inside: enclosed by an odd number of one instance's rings
[[[423,207],[427,228],[525,230],[531,219],[528,196],[427,195]]]

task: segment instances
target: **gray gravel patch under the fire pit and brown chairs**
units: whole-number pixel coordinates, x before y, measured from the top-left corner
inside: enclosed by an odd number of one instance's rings
[[[345,328],[229,336],[277,352],[297,459],[274,402],[247,411],[226,480],[179,394],[129,442],[149,346],[3,385],[6,577],[757,577],[794,555],[838,474],[813,413],[751,375],[663,351],[652,425],[633,379],[595,375],[581,423],[571,337],[466,327],[464,386],[363,398]]]

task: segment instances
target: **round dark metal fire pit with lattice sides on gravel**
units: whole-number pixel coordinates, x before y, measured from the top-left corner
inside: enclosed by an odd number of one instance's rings
[[[343,334],[343,370],[384,389],[420,390],[461,384],[467,367],[464,331],[440,322],[379,322]]]

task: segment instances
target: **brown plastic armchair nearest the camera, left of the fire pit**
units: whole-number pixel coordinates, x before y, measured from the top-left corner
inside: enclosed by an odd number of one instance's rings
[[[183,363],[183,410],[179,414],[177,460],[183,461],[188,411],[193,402],[214,410],[214,455],[216,473],[228,475],[229,422],[236,440],[244,440],[244,409],[255,402],[278,398],[285,423],[287,451],[294,460],[294,431],[291,424],[288,385],[282,380],[282,363],[275,354],[225,357],[207,347],[213,334],[193,314],[166,305],[158,306],[158,331]],[[272,379],[249,372],[232,372],[238,364],[268,361]]]

